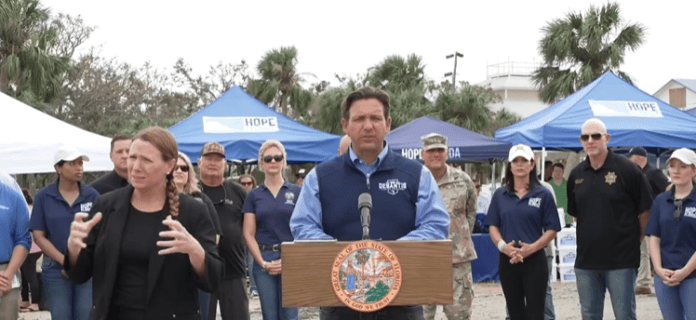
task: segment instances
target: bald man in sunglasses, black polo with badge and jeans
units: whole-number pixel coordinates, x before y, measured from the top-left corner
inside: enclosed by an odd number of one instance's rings
[[[583,319],[602,319],[608,289],[615,318],[635,320],[640,241],[652,196],[640,169],[607,149],[609,139],[601,120],[587,120],[580,135],[587,159],[568,177],[568,213],[577,218],[576,283]]]

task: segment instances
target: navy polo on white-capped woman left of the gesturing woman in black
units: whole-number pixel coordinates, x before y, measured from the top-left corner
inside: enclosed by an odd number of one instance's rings
[[[29,230],[46,231],[48,239],[62,253],[68,249],[70,224],[75,219],[75,214],[89,212],[99,197],[99,192],[94,188],[80,182],[78,185],[80,195],[72,206],[68,205],[58,191],[57,181],[41,189],[34,198]]]

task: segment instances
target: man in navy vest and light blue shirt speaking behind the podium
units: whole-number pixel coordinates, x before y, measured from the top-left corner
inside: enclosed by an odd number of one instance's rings
[[[362,239],[358,196],[372,196],[370,239],[447,239],[449,214],[430,171],[389,151],[389,95],[372,87],[349,94],[341,104],[348,152],[318,165],[305,178],[290,219],[295,240]],[[423,319],[420,306],[386,307],[372,314],[323,307],[322,320]]]

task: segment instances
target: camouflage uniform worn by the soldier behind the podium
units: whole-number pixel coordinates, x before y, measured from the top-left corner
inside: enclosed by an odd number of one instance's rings
[[[471,260],[477,258],[471,230],[476,220],[476,187],[465,172],[447,166],[447,173],[437,181],[442,199],[450,214],[454,304],[443,306],[447,319],[469,319],[474,299]],[[436,306],[423,306],[426,320],[435,318]]]

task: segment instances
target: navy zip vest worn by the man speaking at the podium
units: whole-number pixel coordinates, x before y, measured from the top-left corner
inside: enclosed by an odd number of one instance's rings
[[[416,228],[423,166],[388,151],[368,180],[348,152],[316,167],[324,232],[340,241],[362,239],[358,196],[372,196],[370,239],[396,240]]]

